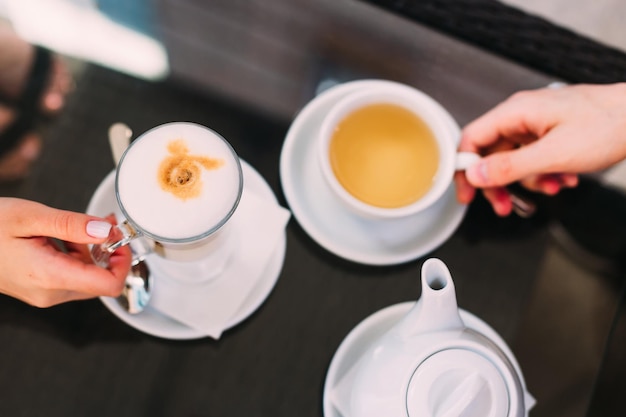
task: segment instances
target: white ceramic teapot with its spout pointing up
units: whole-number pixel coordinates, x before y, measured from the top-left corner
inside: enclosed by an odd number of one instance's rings
[[[422,296],[408,313],[351,360],[326,387],[343,417],[527,417],[535,403],[505,342],[457,307],[439,259],[422,266]]]

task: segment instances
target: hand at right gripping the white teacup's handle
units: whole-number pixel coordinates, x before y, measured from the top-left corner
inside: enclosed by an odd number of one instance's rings
[[[481,188],[494,211],[508,215],[507,184],[552,195],[576,186],[577,174],[626,158],[626,84],[516,93],[467,125],[459,149],[484,156],[456,174],[459,201]]]

